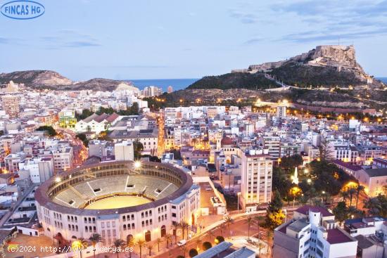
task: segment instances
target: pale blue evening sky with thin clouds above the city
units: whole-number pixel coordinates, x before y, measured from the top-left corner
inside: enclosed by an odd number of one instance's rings
[[[0,14],[0,72],[200,78],[340,41],[355,45],[366,72],[387,77],[387,0],[34,1],[46,9],[39,18]]]

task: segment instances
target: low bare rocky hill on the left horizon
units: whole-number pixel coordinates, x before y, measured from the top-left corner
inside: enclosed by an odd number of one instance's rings
[[[25,84],[32,89],[113,91],[118,86],[132,87],[128,82],[113,79],[94,78],[85,82],[72,82],[58,72],[50,70],[28,70],[0,74],[0,84],[8,84],[10,81]]]

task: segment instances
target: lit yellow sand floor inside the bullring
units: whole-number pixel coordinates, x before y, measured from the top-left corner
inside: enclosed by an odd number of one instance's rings
[[[84,209],[118,209],[143,205],[148,202],[151,202],[151,200],[137,196],[115,196],[97,200],[87,205],[87,207],[84,207]]]

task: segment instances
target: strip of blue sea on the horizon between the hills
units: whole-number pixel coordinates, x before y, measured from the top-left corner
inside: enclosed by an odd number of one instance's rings
[[[127,82],[132,82],[139,89],[144,89],[146,86],[158,86],[167,91],[168,86],[172,86],[173,91],[186,89],[189,85],[196,82],[198,79],[126,79]]]

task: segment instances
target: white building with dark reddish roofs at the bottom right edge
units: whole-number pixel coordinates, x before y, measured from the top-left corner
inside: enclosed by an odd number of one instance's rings
[[[357,240],[322,207],[300,207],[293,219],[274,229],[274,258],[355,258],[356,253]]]

